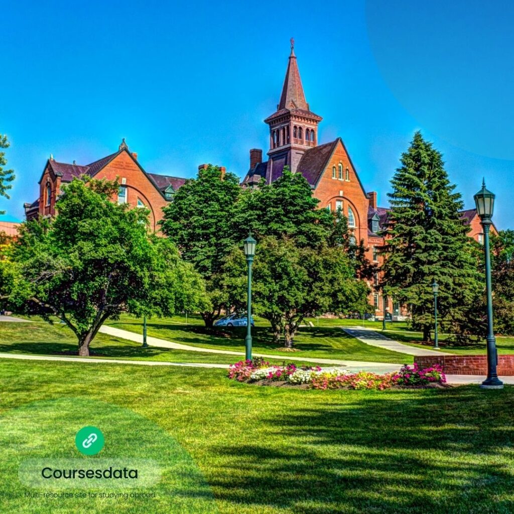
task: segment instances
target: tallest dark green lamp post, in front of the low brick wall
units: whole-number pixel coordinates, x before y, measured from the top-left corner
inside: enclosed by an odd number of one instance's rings
[[[494,209],[494,194],[485,188],[485,180],[482,180],[482,189],[473,196],[476,212],[481,219],[484,228],[484,254],[485,254],[485,286],[487,292],[487,378],[480,387],[484,389],[503,389],[503,382],[498,378],[496,366],[498,364],[498,352],[496,339],[492,328],[492,288],[491,288],[491,256],[489,253],[489,229]]]

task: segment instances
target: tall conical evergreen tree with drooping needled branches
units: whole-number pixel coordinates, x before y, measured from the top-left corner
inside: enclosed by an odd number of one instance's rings
[[[439,319],[457,333],[466,327],[466,309],[481,294],[476,261],[460,219],[460,193],[444,169],[443,156],[419,132],[400,159],[389,193],[391,203],[382,286],[408,304],[413,325],[430,339],[431,283],[439,284]]]

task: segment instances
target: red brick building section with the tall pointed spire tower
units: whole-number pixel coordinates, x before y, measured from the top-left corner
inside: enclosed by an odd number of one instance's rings
[[[367,256],[378,265],[382,256],[378,248],[384,245],[380,235],[386,228],[388,210],[378,207],[377,193],[364,190],[343,140],[319,144],[318,124],[321,116],[314,114],[305,99],[297,58],[291,40],[291,53],[277,111],[264,122],[269,126],[269,150],[263,160],[260,149],[250,150],[250,168],[243,185],[255,187],[264,178],[271,183],[281,176],[284,166],[293,173],[301,173],[320,200],[319,207],[341,210],[348,219],[348,227],[355,242],[363,241]],[[469,225],[469,236],[482,242],[482,226],[474,209],[464,211],[462,219]],[[494,227],[491,229],[495,231]],[[374,279],[378,283],[378,275]],[[370,283],[373,287],[375,284]],[[372,293],[377,317],[383,313],[380,292]],[[406,314],[400,305],[388,301],[387,310],[393,316]]]

